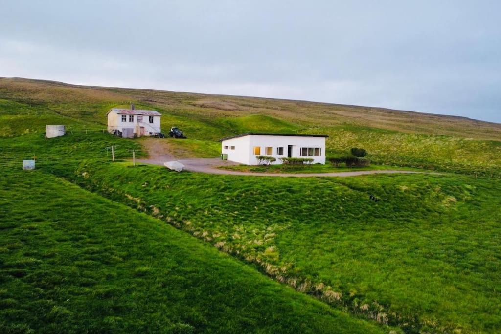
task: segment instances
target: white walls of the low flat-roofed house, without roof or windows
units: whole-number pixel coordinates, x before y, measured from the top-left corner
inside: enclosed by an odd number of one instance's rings
[[[325,138],[324,137],[300,137],[300,136],[257,136],[233,138],[221,142],[221,152],[228,154],[228,160],[245,165],[257,165],[258,159],[254,154],[254,147],[261,147],[261,155],[265,154],[266,147],[272,147],[272,154],[269,155],[277,159],[274,164],[281,164],[280,158],[287,157],[288,146],[292,145],[293,158],[312,158],[313,163],[325,164]],[[234,150],[224,149],[224,146],[235,146]],[[284,148],[284,154],[277,154],[277,147]],[[302,157],[302,147],[319,147],[321,152],[318,157]]]

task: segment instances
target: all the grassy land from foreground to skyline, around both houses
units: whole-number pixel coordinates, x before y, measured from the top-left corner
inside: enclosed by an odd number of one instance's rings
[[[180,157],[217,156],[216,140],[240,132],[325,133],[329,154],[364,147],[371,169],[447,173],[273,178],[132,167],[124,160],[133,150],[147,154],[141,140],[103,132],[108,109],[129,102],[185,131],[188,140],[169,141]],[[45,139],[48,122],[67,125],[67,135]],[[391,329],[379,322],[409,333],[498,332],[500,130],[377,108],[0,79],[0,325]],[[37,171],[21,171],[34,156]]]

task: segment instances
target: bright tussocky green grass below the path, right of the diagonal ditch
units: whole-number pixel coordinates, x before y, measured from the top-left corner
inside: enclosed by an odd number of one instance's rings
[[[497,180],[242,178],[128,164],[83,166],[79,175],[354,312],[400,325],[418,319],[421,329],[501,328]]]

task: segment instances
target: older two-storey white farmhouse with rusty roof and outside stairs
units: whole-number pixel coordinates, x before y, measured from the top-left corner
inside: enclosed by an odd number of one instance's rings
[[[108,112],[108,132],[123,138],[152,136],[160,131],[160,117],[155,110],[113,108]]]

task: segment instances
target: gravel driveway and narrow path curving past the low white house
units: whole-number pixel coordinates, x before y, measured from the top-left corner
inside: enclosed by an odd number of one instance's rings
[[[204,158],[189,158],[189,159],[176,159],[171,153],[169,148],[169,140],[159,140],[148,138],[142,141],[144,148],[149,152],[147,159],[137,159],[137,162],[160,165],[163,166],[167,161],[179,161],[182,163],[186,170],[191,172],[208,173],[208,174],[224,174],[224,175],[249,175],[249,176],[281,176],[281,177],[307,177],[307,176],[358,176],[368,174],[415,174],[422,172],[413,172],[408,170],[364,170],[353,172],[332,172],[332,173],[254,173],[254,172],[239,172],[234,170],[219,169],[221,166],[237,166],[238,163],[232,161],[223,161],[218,158],[204,159]]]

